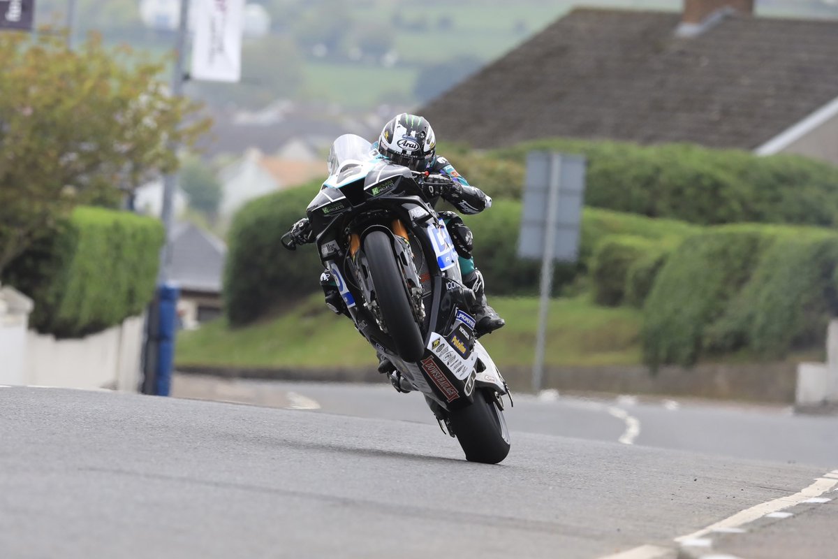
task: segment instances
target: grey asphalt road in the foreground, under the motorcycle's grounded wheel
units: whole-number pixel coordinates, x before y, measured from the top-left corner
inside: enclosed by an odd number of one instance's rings
[[[0,556],[675,556],[730,517],[815,515],[838,484],[509,417],[510,457],[485,466],[424,420],[0,388]]]

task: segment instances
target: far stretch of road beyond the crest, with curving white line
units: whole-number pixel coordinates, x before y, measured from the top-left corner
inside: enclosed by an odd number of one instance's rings
[[[202,383],[215,392],[198,391]],[[314,407],[355,417],[436,425],[418,394],[380,385],[217,380],[183,375],[175,393],[256,403]],[[294,401],[289,401],[291,394]],[[838,467],[838,417],[794,415],[789,407],[711,401],[638,400],[630,396],[546,397],[513,395],[510,429],[603,442],[631,442],[732,458]],[[551,396],[551,395],[545,395]]]

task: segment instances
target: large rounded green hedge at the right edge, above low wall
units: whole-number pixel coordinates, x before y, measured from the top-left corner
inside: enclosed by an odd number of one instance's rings
[[[688,238],[644,306],[644,359],[692,365],[745,350],[763,359],[821,344],[838,313],[838,233],[727,225]]]

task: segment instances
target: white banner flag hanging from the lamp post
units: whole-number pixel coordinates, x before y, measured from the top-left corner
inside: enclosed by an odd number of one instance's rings
[[[194,80],[241,79],[241,13],[245,0],[198,0],[192,44]]]

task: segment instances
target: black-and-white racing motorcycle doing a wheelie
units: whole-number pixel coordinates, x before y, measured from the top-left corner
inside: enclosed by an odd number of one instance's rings
[[[378,157],[354,134],[334,141],[328,179],[306,213],[355,328],[422,392],[466,459],[499,463],[510,451],[509,387],[475,335],[457,251],[427,199],[428,173]],[[282,237],[289,250],[296,243]]]

